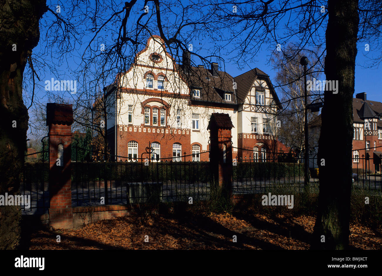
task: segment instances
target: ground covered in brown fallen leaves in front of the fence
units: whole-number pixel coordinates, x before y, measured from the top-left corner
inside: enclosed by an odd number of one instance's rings
[[[29,233],[29,249],[308,249],[315,218],[262,214],[119,217]],[[353,249],[382,249],[382,229],[351,224]],[[57,235],[61,241],[57,242]],[[145,242],[145,236],[148,242]],[[236,235],[237,242],[233,242]],[[146,237],[147,240],[147,237]]]

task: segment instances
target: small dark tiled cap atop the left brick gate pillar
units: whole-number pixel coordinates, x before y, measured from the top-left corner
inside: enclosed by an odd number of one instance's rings
[[[47,103],[47,123],[71,125],[73,123],[73,109],[71,104]]]

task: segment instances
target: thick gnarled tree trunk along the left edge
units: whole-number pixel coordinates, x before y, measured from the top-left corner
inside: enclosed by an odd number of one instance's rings
[[[29,119],[23,102],[23,72],[27,58],[39,41],[39,19],[45,11],[45,0],[0,0],[1,195],[19,192]],[[18,246],[20,220],[20,206],[0,206],[0,249]]]

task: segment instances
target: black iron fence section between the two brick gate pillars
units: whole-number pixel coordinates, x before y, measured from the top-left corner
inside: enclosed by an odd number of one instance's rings
[[[147,154],[148,156],[143,156]],[[207,199],[210,189],[208,161],[185,161],[179,158],[117,156],[120,162],[72,162],[72,196],[77,206],[85,204],[129,204],[155,201],[177,201],[193,197]],[[208,159],[209,152],[199,153]]]

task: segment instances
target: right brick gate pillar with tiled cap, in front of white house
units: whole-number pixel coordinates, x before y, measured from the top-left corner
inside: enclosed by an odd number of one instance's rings
[[[228,114],[212,113],[210,130],[210,167],[215,184],[232,197],[232,121]]]

